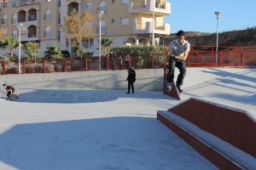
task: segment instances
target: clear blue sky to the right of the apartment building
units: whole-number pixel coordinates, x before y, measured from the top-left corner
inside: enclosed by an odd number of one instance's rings
[[[256,0],[167,0],[171,14],[164,22],[171,24],[171,33],[178,30],[216,32],[214,12],[221,12],[218,31],[234,31],[256,26]]]

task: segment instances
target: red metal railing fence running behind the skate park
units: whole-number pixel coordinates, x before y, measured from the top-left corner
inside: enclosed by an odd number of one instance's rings
[[[256,48],[253,47],[218,47],[191,46],[188,67],[256,67]],[[166,53],[150,55],[131,55],[128,67],[135,69],[163,68],[168,61]],[[19,61],[3,61],[0,65],[0,75],[18,74]],[[108,57],[83,57],[82,59],[38,59],[37,63],[22,59],[20,62],[21,74],[50,73],[69,71],[109,71],[124,70],[127,65],[125,56]]]

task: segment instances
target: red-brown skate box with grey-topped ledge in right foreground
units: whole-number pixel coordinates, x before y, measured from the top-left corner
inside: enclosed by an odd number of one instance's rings
[[[219,169],[256,169],[252,113],[190,98],[157,111],[157,119]]]

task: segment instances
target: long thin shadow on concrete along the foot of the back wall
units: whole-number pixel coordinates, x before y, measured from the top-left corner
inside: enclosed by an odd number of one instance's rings
[[[13,102],[80,104],[108,102],[119,98],[172,100],[162,92],[154,91],[135,91],[135,94],[126,94],[126,90],[70,88],[19,88],[16,91],[19,93],[19,99],[13,99]],[[1,99],[6,99],[6,97],[1,97]]]

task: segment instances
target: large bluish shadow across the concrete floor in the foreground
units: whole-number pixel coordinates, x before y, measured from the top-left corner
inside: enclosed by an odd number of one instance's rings
[[[216,169],[149,117],[18,124],[0,144],[5,169]]]

